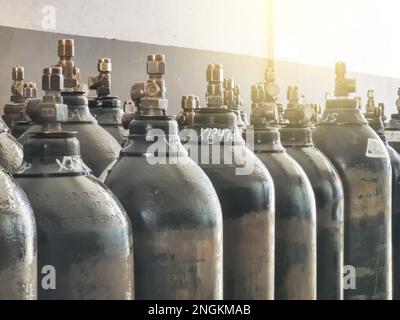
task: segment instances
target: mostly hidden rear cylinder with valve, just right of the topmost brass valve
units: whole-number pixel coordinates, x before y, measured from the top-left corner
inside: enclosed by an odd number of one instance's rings
[[[97,97],[89,99],[89,110],[98,124],[121,144],[125,140],[122,126],[124,112],[121,109],[121,100],[111,96],[111,69],[110,58],[99,59],[98,76],[89,77],[89,89],[97,92]]]

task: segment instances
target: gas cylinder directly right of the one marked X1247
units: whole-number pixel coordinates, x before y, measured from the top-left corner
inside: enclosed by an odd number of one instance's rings
[[[279,92],[270,83],[251,87],[254,152],[275,184],[275,299],[316,298],[316,211],[310,181],[287,154],[277,128]],[[247,130],[247,134],[250,130]]]

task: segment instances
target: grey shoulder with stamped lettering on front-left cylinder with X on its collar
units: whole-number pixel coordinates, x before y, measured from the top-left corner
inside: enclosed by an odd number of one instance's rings
[[[60,227],[127,225],[128,218],[117,198],[92,176],[17,178],[36,217]]]

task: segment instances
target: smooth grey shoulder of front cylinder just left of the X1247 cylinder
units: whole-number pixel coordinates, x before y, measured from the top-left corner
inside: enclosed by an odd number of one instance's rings
[[[110,169],[105,184],[137,228],[214,226],[222,219],[215,189],[190,158],[152,165],[144,156],[124,156]]]

